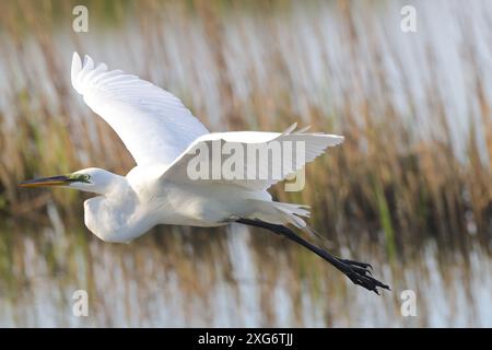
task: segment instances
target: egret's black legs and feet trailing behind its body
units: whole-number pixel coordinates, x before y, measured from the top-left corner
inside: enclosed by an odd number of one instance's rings
[[[294,241],[297,244],[301,244],[302,246],[317,254],[318,256],[330,262],[332,266],[335,266],[337,269],[342,271],[353,283],[362,285],[370,291],[374,291],[376,294],[379,294],[377,290],[378,287],[389,290],[388,285],[379,282],[378,280],[376,280],[371,276],[370,270],[370,268],[372,268],[371,265],[349,259],[340,259],[329,254],[328,252],[311,244],[306,240],[295,234],[295,232],[290,230],[289,228],[268,223],[260,220],[250,220],[250,219],[239,219],[236,222],[243,223],[245,225],[267,229],[276,234],[283,235],[289,240]]]

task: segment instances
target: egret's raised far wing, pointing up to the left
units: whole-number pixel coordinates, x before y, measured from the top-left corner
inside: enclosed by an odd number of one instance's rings
[[[138,165],[171,164],[209,130],[169,92],[94,65],[74,52],[72,85],[87,106],[118,133]]]

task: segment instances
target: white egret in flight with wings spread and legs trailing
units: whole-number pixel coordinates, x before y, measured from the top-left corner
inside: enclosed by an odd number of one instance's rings
[[[189,150],[214,140],[239,145],[302,141],[307,163],[326,148],[341,143],[342,137],[295,132],[293,128],[282,133],[211,133],[169,92],[136,75],[108,70],[105,63],[96,66],[89,56],[82,62],[77,52],[71,81],[87,106],[118,133],[137,166],[127,176],[91,167],[20,185],[62,186],[98,195],[84,202],[84,221],[101,240],[129,242],[157,224],[214,228],[238,222],[267,229],[303,245],[367,290],[377,293],[377,288],[389,289],[371,276],[368,264],[338,258],[285,226],[293,224],[313,232],[301,218],[309,214],[305,206],[272,200],[267,189],[276,179],[207,180],[191,179],[187,174]],[[294,171],[304,166],[297,165]],[[286,175],[281,174],[279,179]]]

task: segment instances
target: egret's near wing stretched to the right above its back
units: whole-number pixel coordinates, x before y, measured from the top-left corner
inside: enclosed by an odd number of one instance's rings
[[[294,132],[295,127],[296,125],[293,125],[284,132],[234,131],[204,135],[176,159],[162,178],[177,183],[204,180],[236,185],[249,190],[263,190],[304,167],[306,163],[323,154],[328,147],[337,145],[343,141],[343,137],[336,135],[307,133],[304,130]],[[229,143],[229,148],[224,152],[225,143]],[[277,147],[273,147],[273,143],[277,143]],[[300,143],[302,143],[301,148],[297,147]],[[255,148],[248,148],[253,144]],[[234,151],[230,151],[232,149]],[[260,156],[258,149],[259,152],[268,152]],[[224,171],[227,171],[229,166],[224,166],[224,164],[227,160],[231,161],[230,158],[234,156],[237,150],[243,151],[242,155],[236,156],[235,160],[243,159],[243,162],[235,163],[236,165],[243,165],[243,168],[241,172],[229,174],[239,176],[227,176]],[[204,162],[203,164],[198,164],[197,160],[201,152],[208,153],[208,155],[201,159]],[[248,152],[249,154],[247,154]],[[208,164],[203,173],[206,177],[197,177],[197,168],[206,163]],[[219,178],[214,177],[218,174],[213,171],[213,163],[218,164],[215,170],[220,168]],[[227,164],[231,165],[232,163],[229,162]],[[195,173],[191,174],[192,172]]]

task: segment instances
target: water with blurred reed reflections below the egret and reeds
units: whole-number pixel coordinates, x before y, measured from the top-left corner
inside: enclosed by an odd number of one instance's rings
[[[303,248],[241,225],[161,229],[128,245],[63,225],[1,237],[0,326],[492,326],[492,259],[479,249],[464,259],[429,243],[388,265],[380,247],[361,244],[356,257],[393,288],[377,296]],[[72,315],[80,289],[87,317]],[[415,317],[400,313],[407,289]]]

